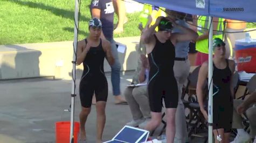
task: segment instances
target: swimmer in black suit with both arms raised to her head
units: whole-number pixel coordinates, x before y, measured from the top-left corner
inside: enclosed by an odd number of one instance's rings
[[[158,26],[158,32],[154,32]],[[171,33],[172,27],[177,26],[183,33]],[[155,33],[155,34],[154,34]],[[181,41],[196,40],[198,34],[189,28],[177,25],[167,17],[158,17],[153,26],[146,29],[141,39],[146,44],[149,56],[148,94],[151,109],[151,121],[145,127],[152,131],[162,120],[162,99],[167,108],[167,142],[174,142],[175,112],[178,104],[177,82],[174,77],[175,44]]]

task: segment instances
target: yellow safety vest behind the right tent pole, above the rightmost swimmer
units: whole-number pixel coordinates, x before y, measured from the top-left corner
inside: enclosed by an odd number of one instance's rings
[[[218,26],[217,26],[217,34],[213,35],[213,39],[220,38],[223,40],[223,30],[224,30],[224,19],[219,18]],[[210,28],[209,17],[199,16],[197,20],[197,34],[203,35]],[[201,28],[202,27],[202,28]],[[204,29],[207,28],[207,29]],[[203,52],[208,54],[208,39],[196,41],[196,50],[199,52]]]

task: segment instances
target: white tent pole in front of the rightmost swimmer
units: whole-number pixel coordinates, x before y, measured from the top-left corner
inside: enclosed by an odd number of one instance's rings
[[[208,142],[212,143],[212,121],[213,121],[213,102],[212,102],[212,85],[213,85],[213,79],[212,79],[212,17],[209,17],[210,29],[209,29],[209,64],[208,64],[208,88],[209,88],[209,101],[208,101]],[[212,81],[211,81],[212,80]]]

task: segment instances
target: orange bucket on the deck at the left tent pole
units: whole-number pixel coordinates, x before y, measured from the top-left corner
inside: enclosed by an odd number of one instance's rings
[[[56,143],[70,143],[70,121],[56,122]],[[79,122],[74,122],[74,143],[78,142]]]

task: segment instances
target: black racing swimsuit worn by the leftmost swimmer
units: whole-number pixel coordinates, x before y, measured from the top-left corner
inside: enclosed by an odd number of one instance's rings
[[[85,39],[87,43],[87,39]],[[91,47],[86,54],[84,71],[79,85],[81,106],[89,108],[92,105],[92,96],[95,92],[96,101],[107,101],[108,82],[105,77],[103,62],[106,54],[102,48],[102,41],[98,47]]]

